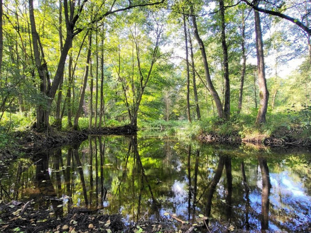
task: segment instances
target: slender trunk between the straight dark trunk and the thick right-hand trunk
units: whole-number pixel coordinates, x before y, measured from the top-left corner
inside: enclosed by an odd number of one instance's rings
[[[239,105],[238,105],[238,114],[242,111],[242,100],[243,100],[243,86],[244,86],[244,78],[246,71],[246,51],[245,51],[245,18],[244,12],[242,12],[242,70],[241,70],[241,84],[240,84],[240,92],[239,92]]]

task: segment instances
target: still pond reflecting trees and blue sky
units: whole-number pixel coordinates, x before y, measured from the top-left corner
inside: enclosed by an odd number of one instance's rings
[[[306,232],[311,225],[310,163],[307,150],[91,136],[11,164],[0,177],[0,199],[34,199],[57,215],[72,207],[100,209],[120,213],[125,223],[172,221],[173,214],[197,223],[204,215],[210,229]]]

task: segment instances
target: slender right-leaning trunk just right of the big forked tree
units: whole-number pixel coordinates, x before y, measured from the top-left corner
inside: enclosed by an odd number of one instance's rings
[[[86,67],[85,67],[84,77],[83,77],[83,86],[82,86],[82,90],[81,90],[81,96],[80,96],[80,100],[79,100],[77,113],[76,113],[74,120],[73,120],[73,129],[74,130],[77,130],[79,128],[79,125],[78,125],[79,124],[79,118],[80,118],[80,114],[81,114],[83,103],[84,103],[84,96],[85,96],[85,92],[86,92],[86,84],[87,84],[87,77],[88,77],[88,69],[89,69],[89,63],[90,63],[90,58],[91,58],[91,46],[92,46],[92,33],[89,31],[89,34],[88,34],[88,50],[87,50],[87,55],[86,55]]]

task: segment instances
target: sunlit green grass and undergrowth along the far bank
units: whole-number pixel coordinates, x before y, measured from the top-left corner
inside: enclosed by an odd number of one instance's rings
[[[50,123],[54,119],[50,118]],[[209,116],[200,121],[187,120],[152,120],[146,121],[138,119],[138,128],[158,132],[159,135],[176,135],[183,138],[195,138],[203,133],[216,133],[219,135],[240,135],[242,138],[264,138],[271,135],[282,137],[279,132],[292,132],[296,138],[311,139],[311,107],[306,107],[300,111],[285,110],[282,112],[268,112],[267,123],[260,128],[255,126],[256,112],[253,114],[232,114],[230,120],[223,120],[218,117]],[[14,145],[14,138],[8,132],[25,131],[30,129],[35,122],[35,113],[5,112],[0,121],[0,149],[8,145]],[[79,127],[81,130],[88,129],[89,119],[80,117]],[[94,119],[93,119],[94,124]],[[129,121],[106,120],[106,127],[117,127],[129,124]],[[63,118],[63,131],[68,130],[67,117]],[[278,134],[279,133],[279,134]]]

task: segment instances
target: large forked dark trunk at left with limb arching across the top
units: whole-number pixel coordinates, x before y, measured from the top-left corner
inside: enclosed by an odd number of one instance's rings
[[[131,8],[160,4],[160,3],[163,3],[164,0],[155,1],[155,2],[147,2],[147,3],[144,3],[144,2],[139,3],[138,2],[138,4],[132,4],[131,2],[129,2],[129,4],[125,7],[121,6],[120,8],[113,9],[115,7],[115,3],[116,3],[116,1],[114,1],[109,8],[105,8],[108,10],[106,10],[104,12],[100,12],[99,14],[97,14],[97,16],[92,21],[87,23],[87,26],[80,27],[78,22],[79,22],[79,20],[81,20],[81,17],[83,16],[82,13],[86,7],[86,2],[87,2],[87,0],[78,1],[78,2],[76,2],[74,0],[70,0],[69,2],[68,2],[68,0],[64,0],[64,2],[63,2],[63,4],[64,4],[64,17],[65,17],[65,23],[66,23],[66,38],[65,38],[65,43],[63,46],[61,56],[60,56],[59,61],[58,61],[57,69],[56,69],[55,75],[53,77],[53,81],[51,83],[51,87],[50,87],[50,85],[48,85],[48,88],[46,88],[46,83],[45,83],[46,79],[44,79],[44,77],[46,74],[48,74],[48,72],[44,74],[44,72],[42,70],[43,66],[40,62],[39,51],[37,49],[38,46],[36,44],[34,44],[34,56],[35,56],[35,60],[36,60],[36,66],[38,69],[39,77],[40,77],[41,82],[42,82],[41,87],[40,87],[40,92],[42,93],[42,95],[46,96],[48,99],[46,109],[43,109],[43,107],[38,108],[38,112],[37,112],[38,116],[37,116],[37,122],[36,122],[36,126],[38,129],[39,128],[45,128],[48,126],[52,101],[55,97],[58,86],[61,83],[66,58],[67,58],[69,49],[72,46],[73,38],[77,34],[86,30],[86,28],[92,27],[96,22],[102,21],[104,19],[104,17],[107,17],[109,15],[112,15],[112,14],[115,14],[118,12],[126,11],[126,10],[129,10]],[[103,4],[104,3],[102,3],[100,5],[101,9],[104,9]],[[30,21],[31,21],[31,26],[32,26],[33,43],[40,43],[39,42],[40,38],[39,38],[38,34],[36,33],[35,18],[33,17],[34,16],[33,10],[34,10],[33,0],[29,0],[29,12],[30,12],[30,19],[31,19]],[[44,58],[43,50],[41,50],[41,56],[42,56],[42,58]],[[45,65],[45,67],[46,67],[45,63],[43,63],[43,65]],[[46,67],[46,70],[47,70],[47,67]],[[50,79],[48,79],[48,80],[50,80]]]

